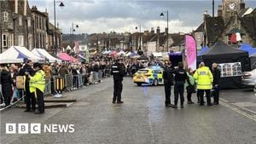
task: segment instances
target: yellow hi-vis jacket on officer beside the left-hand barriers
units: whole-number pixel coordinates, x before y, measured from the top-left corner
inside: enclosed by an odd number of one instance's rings
[[[43,70],[39,70],[36,74],[30,78],[29,81],[29,90],[30,92],[35,92],[38,88],[40,91],[44,93],[45,87],[45,73]]]

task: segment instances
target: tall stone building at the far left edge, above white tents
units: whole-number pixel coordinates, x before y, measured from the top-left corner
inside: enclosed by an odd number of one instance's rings
[[[12,45],[32,49],[32,14],[27,0],[0,1],[1,51]]]

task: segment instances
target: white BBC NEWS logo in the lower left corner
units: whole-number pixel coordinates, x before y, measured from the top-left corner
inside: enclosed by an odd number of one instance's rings
[[[74,124],[5,124],[6,134],[73,133]]]

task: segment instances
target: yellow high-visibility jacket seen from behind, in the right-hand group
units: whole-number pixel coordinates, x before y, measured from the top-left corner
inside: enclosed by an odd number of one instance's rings
[[[197,81],[197,89],[212,89],[212,72],[209,67],[201,66],[193,76]]]

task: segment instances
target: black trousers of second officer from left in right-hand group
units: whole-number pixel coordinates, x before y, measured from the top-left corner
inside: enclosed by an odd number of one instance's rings
[[[184,102],[184,84],[177,83],[174,85],[174,105],[177,106],[178,95],[180,95],[180,104],[183,105]]]

